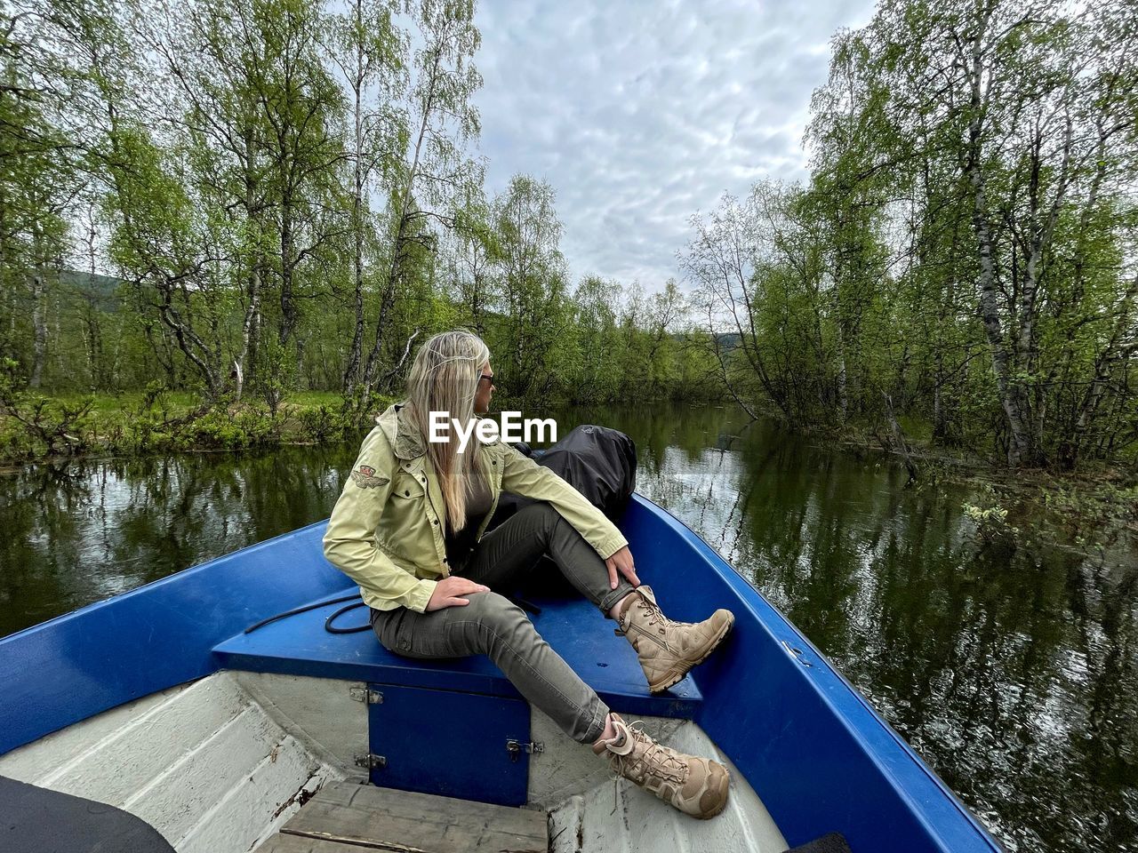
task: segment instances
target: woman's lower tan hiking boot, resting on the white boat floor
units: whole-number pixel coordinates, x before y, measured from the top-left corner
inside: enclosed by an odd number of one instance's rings
[[[731,785],[727,768],[660,746],[638,728],[644,723],[628,726],[618,714],[611,717],[617,736],[593,744],[593,752],[607,752],[616,772],[693,818],[707,820],[724,810]]]

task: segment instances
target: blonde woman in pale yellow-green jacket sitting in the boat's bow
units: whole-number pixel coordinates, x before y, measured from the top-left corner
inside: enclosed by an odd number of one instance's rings
[[[570,737],[687,814],[727,802],[718,762],[659,746],[611,713],[542,639],[505,590],[547,554],[570,583],[620,626],[650,690],[679,681],[733,624],[719,610],[687,624],[663,616],[636,577],[628,543],[600,510],[549,469],[501,442],[431,442],[430,413],[467,424],[489,411],[489,350],[467,331],[436,334],[417,354],[407,399],[364,439],[324,536],[328,560],[360,585],[372,628],[410,657],[485,654]],[[450,422],[450,420],[447,421]],[[505,490],[536,499],[483,536]]]

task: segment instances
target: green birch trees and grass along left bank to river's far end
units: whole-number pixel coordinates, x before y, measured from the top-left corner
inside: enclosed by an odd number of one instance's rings
[[[344,433],[455,325],[519,405],[720,392],[678,285],[575,299],[553,189],[517,175],[485,199],[470,0],[79,0],[14,20],[0,354],[57,399],[147,387],[132,421],[98,413],[92,447]],[[60,272],[68,255],[89,272]],[[302,389],[344,397],[294,409]],[[14,423],[11,447],[46,452]]]

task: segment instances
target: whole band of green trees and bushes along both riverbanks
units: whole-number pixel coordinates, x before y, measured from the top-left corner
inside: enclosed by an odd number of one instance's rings
[[[1121,0],[882,5],[833,39],[809,180],[724,197],[641,283],[570,279],[547,183],[487,190],[472,0],[9,2],[0,453],[360,430],[465,325],[513,406],[1132,469],[1136,36]]]

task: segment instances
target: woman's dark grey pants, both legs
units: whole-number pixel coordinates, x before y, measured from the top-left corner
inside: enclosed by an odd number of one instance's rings
[[[456,570],[490,590],[510,590],[549,554],[561,573],[605,615],[633,591],[609,570],[585,538],[550,504],[531,504],[487,533]],[[542,639],[526,612],[497,591],[463,596],[470,604],[415,613],[406,607],[372,610],[372,629],[390,652],[407,657],[485,654],[534,706],[571,738],[591,744],[601,736],[609,707]]]

